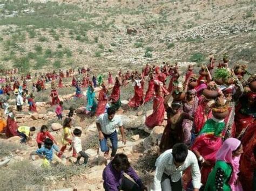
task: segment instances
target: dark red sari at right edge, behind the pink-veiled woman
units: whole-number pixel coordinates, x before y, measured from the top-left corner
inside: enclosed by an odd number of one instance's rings
[[[240,182],[244,190],[253,190],[253,170],[256,169],[256,122],[247,128],[241,139],[244,153],[240,159]]]

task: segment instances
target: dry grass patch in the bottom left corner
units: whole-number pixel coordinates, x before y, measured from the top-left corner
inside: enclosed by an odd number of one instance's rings
[[[62,164],[52,165],[51,168],[39,168],[32,165],[30,161],[24,160],[1,168],[0,185],[3,190],[30,190],[31,188],[40,190],[42,185],[51,185],[52,181],[46,179],[47,177],[53,176],[57,181],[69,180],[72,176],[85,172],[85,169],[76,165]]]

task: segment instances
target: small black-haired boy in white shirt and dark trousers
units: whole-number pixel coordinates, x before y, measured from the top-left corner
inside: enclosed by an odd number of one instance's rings
[[[82,131],[80,129],[75,129],[73,131],[73,135],[74,135],[74,138],[72,140],[71,149],[73,148],[73,150],[75,150],[75,152],[78,154],[76,164],[77,165],[82,165],[82,164],[80,164],[79,161],[83,157],[84,158],[84,165],[86,165],[89,156],[82,150],[82,143],[81,143],[81,139],[80,139],[80,137],[82,135]]]

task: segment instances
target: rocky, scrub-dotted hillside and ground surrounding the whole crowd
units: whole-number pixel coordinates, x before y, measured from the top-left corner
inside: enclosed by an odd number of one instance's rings
[[[256,71],[253,1],[0,1],[0,12],[1,68],[15,66],[22,74],[90,67],[90,75],[102,73],[106,80],[108,71],[114,76],[119,69],[140,70],[145,63],[160,65],[163,61],[178,61],[184,73],[189,63],[205,64],[210,55],[218,62],[224,53],[229,55],[231,66],[246,63],[249,72]],[[66,158],[55,161],[51,169],[43,169],[42,161],[30,156],[37,148],[36,136],[25,146],[19,145],[18,137],[5,139],[1,135],[1,190],[103,189],[101,176],[107,161],[98,150],[95,117],[82,114],[86,98],[73,100],[71,79],[64,79],[64,84],[65,88],[58,90],[64,114],[71,106],[79,108],[73,127],[83,130],[89,165],[73,165],[75,159],[67,151]],[[47,124],[60,143],[62,126],[49,104],[50,84],[46,88],[35,93],[38,114],[25,108],[17,114],[17,122],[36,126],[37,131]],[[143,124],[152,112],[152,103],[132,110],[127,107],[132,95],[130,84],[122,88],[118,115],[124,119],[128,142],[119,143],[118,152],[129,156],[150,187],[157,144],[166,122],[153,131],[146,129]],[[13,99],[11,96],[11,107]]]

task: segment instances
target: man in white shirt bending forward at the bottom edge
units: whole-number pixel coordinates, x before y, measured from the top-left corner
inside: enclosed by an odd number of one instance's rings
[[[196,155],[187,149],[183,143],[178,143],[172,149],[162,153],[156,162],[156,174],[152,190],[181,191],[182,172],[191,169],[194,191],[201,187],[201,173]]]

